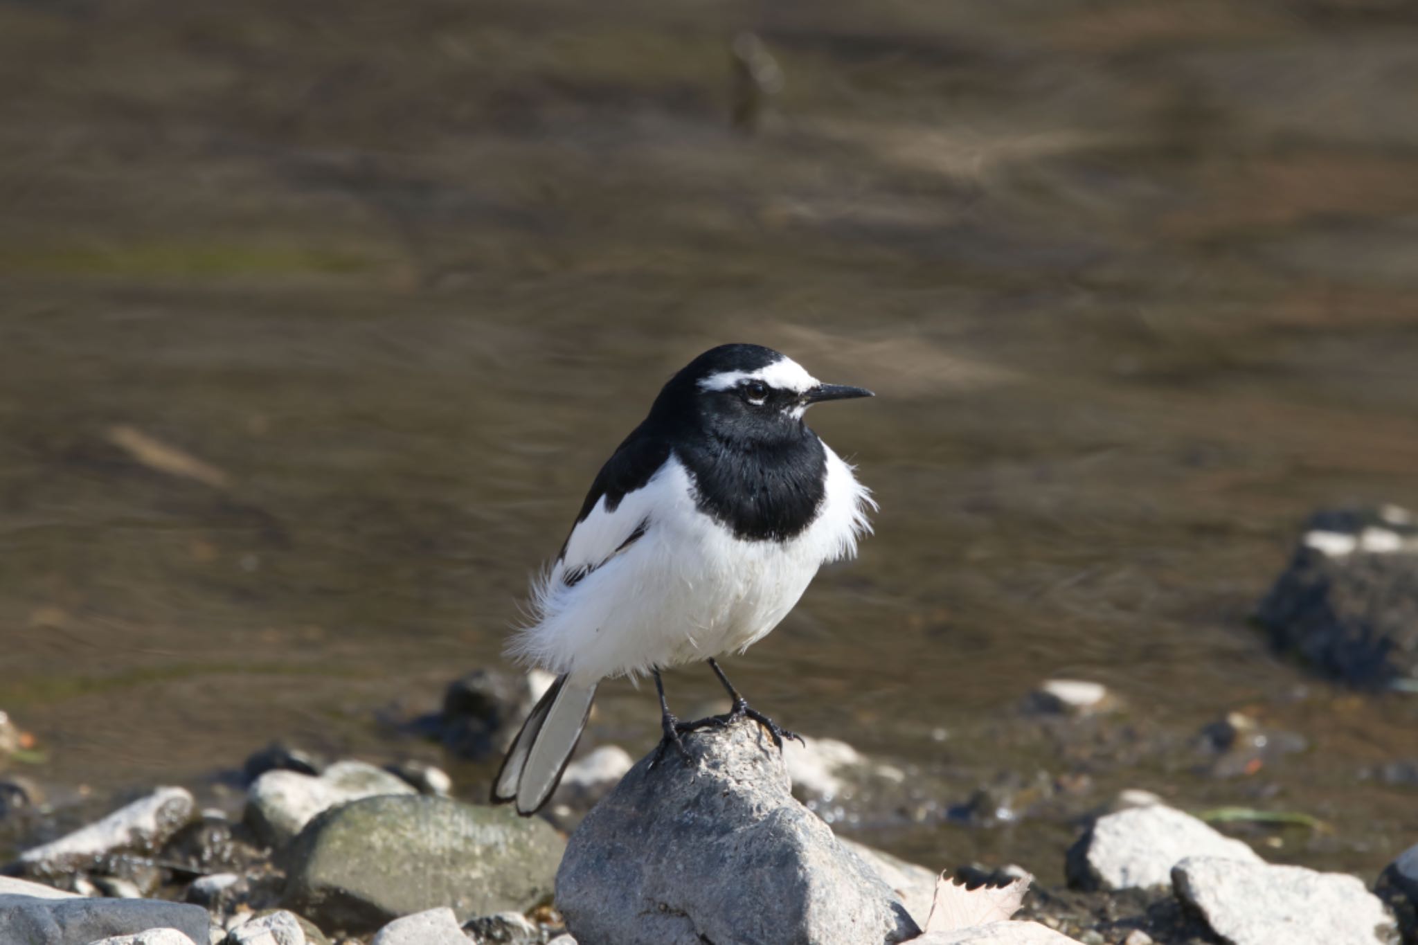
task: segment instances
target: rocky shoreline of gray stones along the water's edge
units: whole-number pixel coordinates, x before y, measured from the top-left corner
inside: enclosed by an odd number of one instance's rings
[[[1412,528],[1397,514],[1316,520],[1262,608],[1278,646],[1323,673],[1361,667],[1366,674],[1347,680],[1361,687],[1411,677],[1404,608],[1418,571]],[[1285,633],[1275,629],[1279,613]],[[1378,642],[1356,630],[1374,613],[1387,621]],[[545,684],[539,674],[472,673],[450,686],[440,713],[406,728],[455,755],[488,758]],[[1078,751],[1102,744],[1126,761],[1120,713],[1126,707],[1096,683],[1048,680],[1015,724]],[[28,744],[0,718],[0,757],[20,757]],[[240,805],[228,809],[160,786],[77,830],[31,816],[21,832],[30,842],[0,870],[0,942],[1418,941],[1418,846],[1381,874],[1356,877],[1272,863],[1279,843],[1258,850],[1212,826],[1268,816],[1239,805],[1198,817],[1139,789],[1096,803],[1062,778],[984,786],[966,803],[943,805],[946,792],[929,776],[835,740],[778,752],[742,721],[689,744],[688,764],[658,766],[615,744],[588,745],[533,819],[458,799],[479,785],[454,785],[428,764],[326,764],[272,745],[241,765]],[[1303,747],[1293,732],[1231,711],[1187,751],[1225,778]],[[902,822],[1012,823],[1061,799],[1086,810],[1071,817],[1075,840],[1052,863],[923,866],[834,833],[886,812]],[[40,809],[38,788],[0,769],[0,823]],[[1316,829],[1299,815],[1269,816]],[[964,887],[940,884],[942,866]],[[1029,885],[1031,873],[1064,883]],[[997,895],[1014,901],[997,908]]]

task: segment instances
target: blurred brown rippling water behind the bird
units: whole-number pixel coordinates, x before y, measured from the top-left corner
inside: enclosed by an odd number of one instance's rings
[[[995,720],[1099,680],[1100,799],[1305,810],[1279,859],[1371,871],[1418,700],[1249,616],[1313,509],[1418,506],[1415,102],[1388,0],[0,3],[0,707],[94,791],[396,755],[664,378],[757,341],[878,392],[811,419],[881,502],[729,662],[759,707],[963,798],[1068,769]],[[1238,708],[1307,751],[1144,749]]]

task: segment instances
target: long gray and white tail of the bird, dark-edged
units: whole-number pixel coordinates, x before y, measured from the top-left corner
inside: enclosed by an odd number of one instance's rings
[[[596,683],[580,686],[557,676],[552,687],[527,715],[516,741],[502,759],[492,782],[492,802],[516,800],[518,813],[529,817],[542,809],[581,740],[586,718],[591,714]]]

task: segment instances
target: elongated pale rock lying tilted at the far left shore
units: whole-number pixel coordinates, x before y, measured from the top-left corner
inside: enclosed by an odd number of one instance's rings
[[[113,853],[155,853],[193,819],[194,802],[183,788],[159,788],[102,820],[20,854],[27,876],[85,870]]]

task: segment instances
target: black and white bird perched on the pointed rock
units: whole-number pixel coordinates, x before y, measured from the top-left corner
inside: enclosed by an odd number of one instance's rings
[[[607,677],[655,677],[664,740],[737,715],[781,747],[793,737],[749,704],[716,656],[743,652],[787,616],[818,567],[856,554],[871,493],[803,414],[871,397],[821,384],[757,344],[723,344],[675,374],[601,468],[571,534],[535,585],[530,626],[509,652],[557,674],[492,786],[535,813],[562,779]],[[708,660],[733,710],[679,723],[661,670]]]

